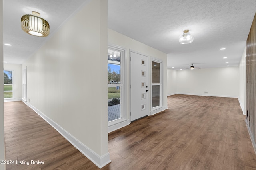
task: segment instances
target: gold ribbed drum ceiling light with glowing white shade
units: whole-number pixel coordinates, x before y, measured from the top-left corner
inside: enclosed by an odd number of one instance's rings
[[[21,28],[30,35],[46,37],[50,33],[49,23],[40,18],[40,13],[32,11],[33,15],[26,14],[21,17]]]

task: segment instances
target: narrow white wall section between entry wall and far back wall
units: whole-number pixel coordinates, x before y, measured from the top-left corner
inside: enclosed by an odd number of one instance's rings
[[[167,96],[177,94],[177,70],[167,69]]]

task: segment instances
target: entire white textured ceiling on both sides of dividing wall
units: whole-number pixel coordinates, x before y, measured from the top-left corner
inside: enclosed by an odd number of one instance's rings
[[[24,33],[22,15],[40,12],[51,36],[85,1],[4,0],[4,61],[22,64],[47,39]],[[108,27],[167,53],[168,68],[238,66],[255,12],[256,0],[108,0]],[[179,44],[184,29],[193,43]]]

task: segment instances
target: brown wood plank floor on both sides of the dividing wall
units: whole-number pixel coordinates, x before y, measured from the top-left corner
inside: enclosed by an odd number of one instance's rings
[[[23,102],[4,103],[7,170],[97,170]],[[168,110],[109,134],[103,170],[256,170],[256,155],[237,98],[173,95]]]

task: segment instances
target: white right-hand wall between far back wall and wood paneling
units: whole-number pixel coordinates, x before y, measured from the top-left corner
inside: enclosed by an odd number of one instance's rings
[[[246,104],[246,47],[244,48],[244,53],[242,55],[240,64],[239,64],[239,93],[238,100],[242,108],[243,114],[246,114],[245,104]]]

